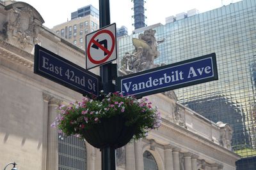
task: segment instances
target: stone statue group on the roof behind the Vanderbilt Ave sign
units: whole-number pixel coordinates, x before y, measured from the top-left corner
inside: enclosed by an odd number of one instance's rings
[[[143,34],[140,34],[138,38],[132,38],[132,44],[135,49],[131,54],[125,53],[124,58],[121,60],[121,67],[118,69],[120,74],[137,73],[159,66],[158,64],[154,64],[154,59],[159,57],[157,45],[163,43],[164,39],[157,41],[155,34],[155,30],[149,29],[144,31]]]

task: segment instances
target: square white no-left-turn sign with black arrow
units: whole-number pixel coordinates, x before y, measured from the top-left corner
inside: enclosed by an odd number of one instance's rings
[[[86,35],[86,69],[116,60],[116,24]]]

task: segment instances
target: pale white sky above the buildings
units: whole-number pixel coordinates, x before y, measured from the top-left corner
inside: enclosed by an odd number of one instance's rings
[[[19,1],[19,0],[17,0]],[[61,24],[70,20],[71,13],[78,8],[92,4],[99,9],[99,0],[20,0],[33,6],[44,18],[45,25],[51,29],[54,25]],[[145,20],[147,25],[157,23],[165,24],[165,18],[178,13],[187,12],[196,8],[200,13],[220,8],[222,5],[236,3],[241,0],[145,0]],[[125,25],[128,31],[134,30],[133,2],[131,0],[109,0],[110,3],[110,22],[116,23],[116,27]]]

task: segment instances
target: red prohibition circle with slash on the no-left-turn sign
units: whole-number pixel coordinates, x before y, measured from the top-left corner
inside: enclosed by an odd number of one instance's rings
[[[95,41],[95,37],[98,36],[99,34],[101,33],[106,33],[106,34],[109,34],[109,36],[111,37],[112,39],[112,47],[111,47],[111,50],[108,52],[108,55],[107,57],[105,57],[104,59],[102,60],[94,60],[91,56],[91,53],[90,53],[90,46],[92,46],[92,43],[93,43],[93,40]],[[100,48],[100,47],[99,47]],[[103,48],[103,47],[102,47]],[[93,64],[101,64],[102,62],[105,62],[106,60],[109,59],[109,57],[111,56],[111,54],[113,53],[113,50],[115,48],[115,36],[113,35],[113,33],[109,30],[106,30],[106,29],[103,29],[102,31],[99,31],[97,32],[91,39],[91,41],[89,42],[88,44],[88,47],[87,47],[87,52],[88,52],[88,59],[93,63]],[[108,50],[108,49],[106,49]]]

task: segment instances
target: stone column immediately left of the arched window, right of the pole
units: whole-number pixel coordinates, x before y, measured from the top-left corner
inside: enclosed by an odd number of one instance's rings
[[[142,141],[138,140],[134,142],[135,150],[135,167],[136,170],[144,170],[143,164],[143,151],[142,151]]]

